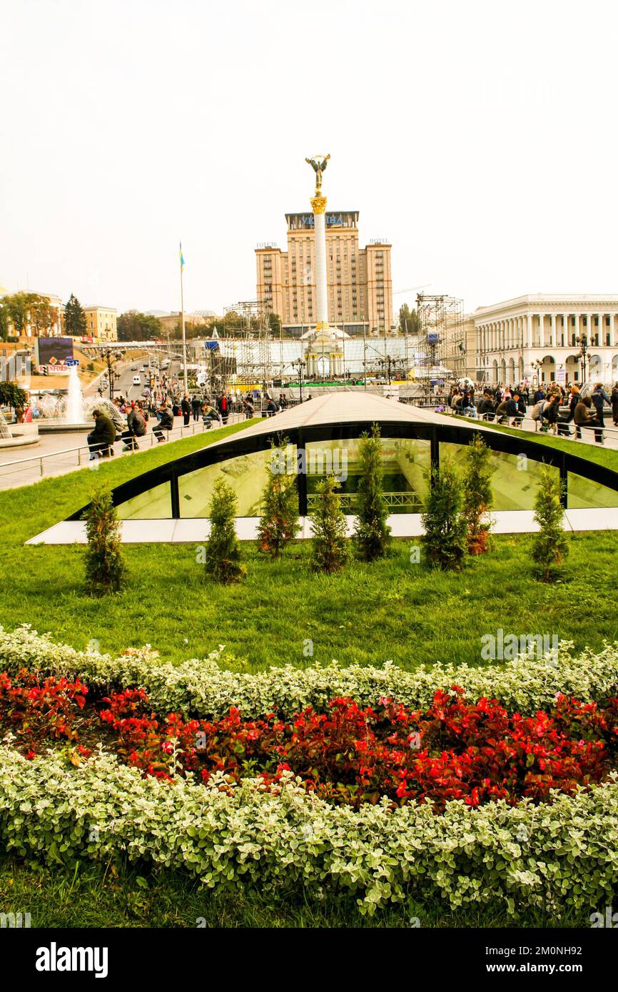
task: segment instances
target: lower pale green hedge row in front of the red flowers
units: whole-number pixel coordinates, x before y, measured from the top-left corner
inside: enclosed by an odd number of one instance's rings
[[[451,908],[534,908],[559,921],[609,904],[618,879],[618,777],[552,804],[329,806],[292,776],[204,787],[142,778],[102,752],[73,767],[0,747],[0,838],[48,862],[126,857],[185,869],[209,889],[238,884],[316,897],[354,894],[373,913],[409,894]]]

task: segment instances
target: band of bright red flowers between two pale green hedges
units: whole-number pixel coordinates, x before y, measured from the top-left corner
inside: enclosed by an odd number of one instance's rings
[[[600,782],[618,752],[618,698],[604,706],[559,696],[551,713],[509,714],[496,700],[466,702],[461,689],[439,690],[428,710],[381,698],[360,707],[333,699],[325,713],[307,707],[284,721],[245,720],[236,708],[220,720],[185,720],[152,710],[144,689],[131,688],[86,706],[87,687],[63,677],[20,671],[0,675],[0,730],[33,758],[58,738],[104,742],[145,774],[177,774],[206,783],[215,773],[236,782],[259,775],[266,786],[293,772],[322,799],[358,808],[388,799],[394,806],[448,800],[479,806],[551,791],[572,793]],[[99,706],[102,707],[99,709]],[[79,730],[77,729],[79,725]],[[75,756],[73,756],[74,760]]]

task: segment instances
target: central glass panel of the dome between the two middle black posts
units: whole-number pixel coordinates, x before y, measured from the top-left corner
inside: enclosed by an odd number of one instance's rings
[[[340,480],[344,513],[354,513],[358,489],[359,438],[309,441],[307,493],[309,510],[317,482],[330,472]],[[382,438],[383,491],[389,513],[420,513],[429,492],[431,443],[413,437]]]

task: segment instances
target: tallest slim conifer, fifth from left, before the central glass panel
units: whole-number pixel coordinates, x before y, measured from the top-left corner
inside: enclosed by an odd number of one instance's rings
[[[391,528],[386,522],[389,514],[382,491],[382,442],[377,424],[372,425],[371,434],[360,436],[358,467],[354,538],[360,557],[373,561],[384,558],[391,540]]]

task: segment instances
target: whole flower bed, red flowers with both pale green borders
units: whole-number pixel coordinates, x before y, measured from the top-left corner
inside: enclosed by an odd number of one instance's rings
[[[387,663],[241,675],[222,670],[220,656],[175,667],[145,648],[112,659],[29,628],[0,628],[3,718],[30,756],[0,746],[6,849],[71,865],[126,857],[185,869],[214,890],[241,883],[300,897],[352,893],[368,913],[416,895],[442,897],[451,908],[537,909],[558,920],[616,894],[618,777],[608,771],[615,646],[573,658],[563,645],[552,664],[519,659],[501,669],[415,672]],[[448,688],[454,682],[465,698]],[[41,701],[36,720],[28,708],[33,689]],[[105,693],[110,716],[102,722],[126,752],[119,756],[80,743],[86,710],[95,700],[101,706]],[[481,702],[487,698],[500,705]],[[160,713],[168,714],[161,725]],[[346,737],[337,742],[343,723]],[[135,747],[132,733],[144,730],[145,746]],[[417,732],[413,757],[402,745]],[[183,745],[198,733],[208,747],[191,754]],[[54,738],[62,751],[36,754]],[[347,780],[337,778],[342,742],[353,747],[344,757]],[[252,748],[271,762],[263,775]],[[435,772],[443,780],[437,788]],[[335,781],[345,795],[333,794]]]

